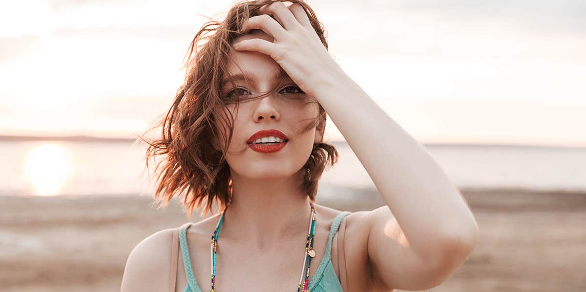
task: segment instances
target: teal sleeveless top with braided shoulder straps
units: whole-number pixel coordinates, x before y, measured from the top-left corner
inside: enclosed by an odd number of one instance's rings
[[[343,292],[342,285],[336,276],[336,271],[333,269],[331,250],[332,250],[332,238],[338,232],[340,222],[342,219],[349,215],[350,212],[344,211],[338,214],[332,222],[330,233],[328,236],[328,243],[326,245],[325,255],[323,256],[322,262],[319,263],[318,269],[315,274],[309,279],[308,289],[311,292]],[[179,243],[181,248],[181,255],[183,256],[183,267],[185,267],[185,274],[187,277],[188,284],[183,289],[183,292],[202,292],[193,276],[193,269],[191,266],[191,260],[189,258],[189,248],[187,244],[187,229],[193,223],[184,224],[181,226],[179,231]],[[291,288],[293,289],[293,288]],[[292,290],[291,290],[292,291]]]

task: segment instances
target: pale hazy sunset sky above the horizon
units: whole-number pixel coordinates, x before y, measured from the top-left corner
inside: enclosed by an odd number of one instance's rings
[[[586,2],[306,1],[329,51],[422,143],[586,147]],[[133,137],[233,1],[5,1],[0,135]],[[343,140],[331,120],[330,140]],[[326,138],[327,139],[327,138]]]

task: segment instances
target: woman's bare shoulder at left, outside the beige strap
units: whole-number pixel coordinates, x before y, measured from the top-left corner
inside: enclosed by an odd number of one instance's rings
[[[142,239],[130,252],[124,267],[121,292],[168,289],[173,228]]]

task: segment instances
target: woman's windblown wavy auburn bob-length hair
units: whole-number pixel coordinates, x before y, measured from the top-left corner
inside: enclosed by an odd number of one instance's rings
[[[278,0],[277,0],[278,1]],[[158,208],[169,204],[174,196],[183,196],[183,211],[192,219],[195,208],[205,203],[201,216],[212,212],[213,203],[224,211],[231,201],[230,169],[224,158],[229,141],[233,135],[234,116],[227,108],[227,102],[220,96],[221,81],[227,73],[227,64],[231,59],[230,45],[235,37],[243,35],[241,28],[248,18],[258,15],[258,9],[277,2],[240,1],[229,9],[226,17],[220,22],[211,18],[196,33],[183,59],[186,68],[183,84],[180,85],[173,104],[166,115],[157,118],[156,125],[148,129],[138,138],[148,143],[146,168],[150,180],[149,160],[161,157],[156,163],[154,174],[154,200],[159,202]],[[300,4],[311,22],[312,27],[328,49],[325,30],[318,21],[315,12],[302,0],[287,0]],[[270,92],[269,92],[270,94]],[[236,102],[238,104],[238,102]],[[319,104],[319,103],[318,103]],[[218,120],[224,121],[219,123]],[[338,152],[333,145],[323,143],[323,131],[326,123],[326,112],[319,105],[319,115],[305,128],[314,126],[321,133],[321,142],[314,144],[312,153],[303,166],[303,181],[300,190],[308,194],[311,201],[315,200],[318,180],[323,171],[338,161]],[[217,149],[216,142],[222,133],[222,125],[227,125],[227,139],[222,149]],[[160,139],[145,139],[143,136],[153,129],[161,129]],[[223,136],[226,138],[226,136]],[[137,139],[138,142],[138,139]],[[153,202],[153,204],[155,203]]]

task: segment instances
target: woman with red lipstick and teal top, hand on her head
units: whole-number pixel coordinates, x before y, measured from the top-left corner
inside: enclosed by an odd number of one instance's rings
[[[190,218],[203,202],[219,212],[140,242],[123,292],[424,290],[476,245],[478,225],[444,171],[336,64],[312,9],[288,2],[240,2],[193,40],[148,154],[166,157],[163,205],[185,191]],[[314,203],[337,156],[323,143],[326,112],[386,206]]]

